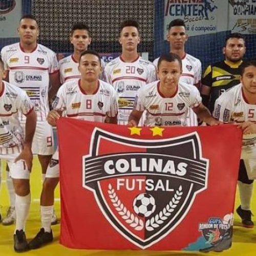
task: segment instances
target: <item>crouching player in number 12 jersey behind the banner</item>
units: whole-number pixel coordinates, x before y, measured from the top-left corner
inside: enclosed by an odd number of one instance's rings
[[[146,111],[145,126],[187,125],[187,113],[192,108],[197,116],[209,125],[220,122],[210,115],[202,104],[196,87],[180,82],[181,58],[175,53],[160,56],[158,76],[160,81],[147,84],[138,91],[129,124],[136,126]]]

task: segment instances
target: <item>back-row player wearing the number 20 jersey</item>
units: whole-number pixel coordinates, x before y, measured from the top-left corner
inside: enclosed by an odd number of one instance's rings
[[[106,65],[106,81],[113,84],[118,95],[118,124],[127,124],[137,91],[156,80],[156,69],[138,54],[140,42],[138,23],[125,20],[120,28],[122,53]],[[139,123],[142,125],[143,120]]]

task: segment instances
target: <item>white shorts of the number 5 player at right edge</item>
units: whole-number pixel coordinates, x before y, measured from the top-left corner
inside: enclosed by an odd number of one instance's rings
[[[256,180],[256,146],[242,147],[241,159],[244,159],[248,179]]]

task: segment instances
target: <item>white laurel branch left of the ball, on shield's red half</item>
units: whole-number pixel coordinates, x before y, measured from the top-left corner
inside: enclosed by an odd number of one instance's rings
[[[116,195],[115,189],[112,188],[111,184],[109,184],[108,193],[113,206],[117,210],[118,214],[122,216],[122,219],[124,219],[125,222],[128,223],[135,230],[143,229],[143,221],[140,220],[138,217],[134,216],[134,214],[132,214],[130,210],[127,210],[127,208],[123,205],[123,203],[121,203],[120,199]]]

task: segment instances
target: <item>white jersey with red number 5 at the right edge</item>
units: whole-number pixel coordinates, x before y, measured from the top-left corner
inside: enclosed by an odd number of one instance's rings
[[[215,102],[214,117],[222,122],[242,123],[246,121],[256,123],[256,104],[250,104],[239,83],[222,93]],[[256,134],[243,135],[243,145],[255,145]]]

